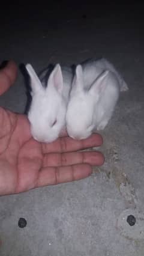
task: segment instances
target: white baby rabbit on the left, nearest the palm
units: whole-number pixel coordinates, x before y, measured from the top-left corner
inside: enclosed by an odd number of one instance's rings
[[[44,86],[47,70],[39,79],[31,64],[26,64],[30,76],[32,102],[28,111],[31,133],[39,142],[52,142],[64,132],[65,114],[73,79],[72,73],[56,64]]]

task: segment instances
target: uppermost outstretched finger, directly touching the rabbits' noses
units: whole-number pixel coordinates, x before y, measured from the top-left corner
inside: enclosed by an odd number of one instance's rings
[[[77,140],[70,137],[58,138],[49,144],[42,144],[43,153],[62,153],[83,150],[90,147],[98,147],[103,144],[103,138],[99,134],[92,134],[87,139]]]

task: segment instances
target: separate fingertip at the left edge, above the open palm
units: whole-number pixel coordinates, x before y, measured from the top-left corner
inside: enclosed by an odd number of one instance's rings
[[[17,76],[17,66],[14,61],[9,61],[4,69],[0,70],[0,95],[13,85]]]

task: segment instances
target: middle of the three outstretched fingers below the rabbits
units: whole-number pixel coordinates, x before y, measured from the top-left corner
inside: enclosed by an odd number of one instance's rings
[[[77,163],[89,163],[90,165],[103,165],[104,156],[98,151],[70,152],[70,153],[49,153],[43,158],[43,167],[66,166]]]

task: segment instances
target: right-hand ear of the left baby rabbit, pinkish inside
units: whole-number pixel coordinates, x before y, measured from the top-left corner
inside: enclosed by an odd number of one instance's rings
[[[58,93],[62,93],[63,78],[61,66],[59,64],[56,64],[47,81],[47,90],[49,90],[50,87],[54,87]]]

